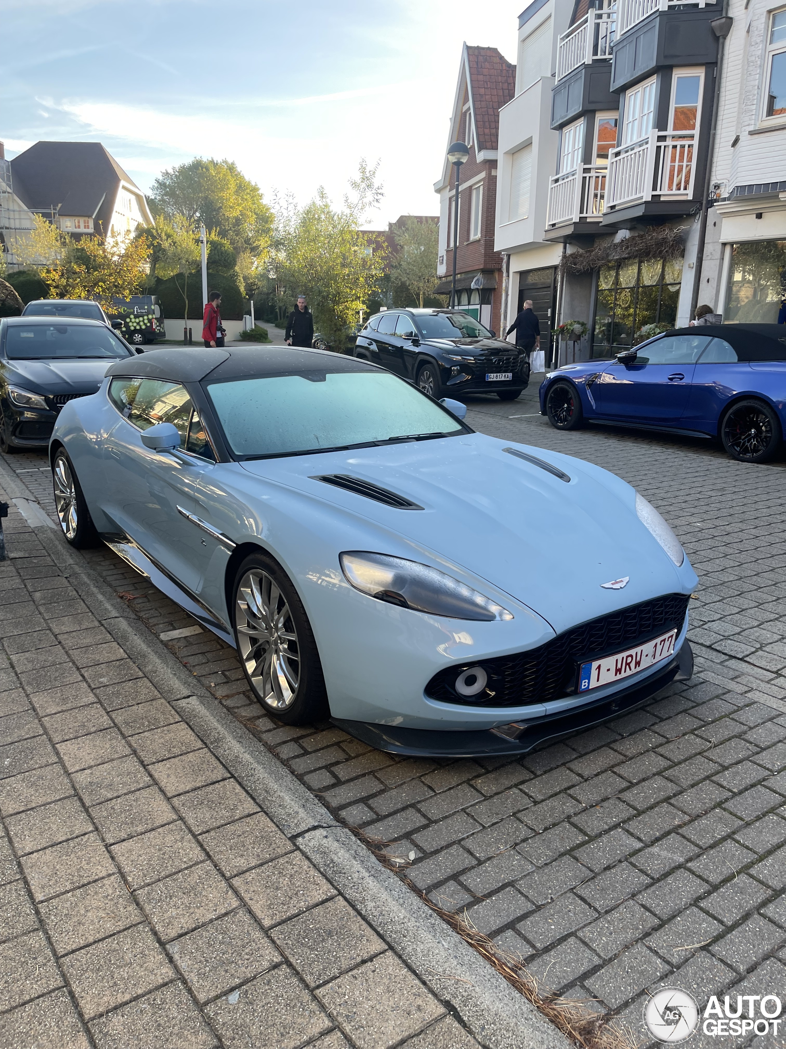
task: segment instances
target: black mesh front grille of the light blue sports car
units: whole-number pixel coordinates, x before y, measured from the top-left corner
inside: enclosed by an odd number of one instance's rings
[[[675,627],[679,629],[689,600],[687,594],[667,594],[591,619],[538,648],[456,664],[436,673],[425,686],[425,694],[442,703],[486,707],[518,707],[570,695],[576,690],[581,663],[643,644]],[[485,670],[486,687],[478,695],[459,695],[453,687],[456,679],[473,666]]]

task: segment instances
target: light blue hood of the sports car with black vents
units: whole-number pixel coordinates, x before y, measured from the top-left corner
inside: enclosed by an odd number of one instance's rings
[[[565,483],[503,449],[556,466]],[[542,616],[559,634],[568,627],[662,594],[687,593],[696,577],[677,570],[639,521],[635,492],[588,463],[484,434],[465,434],[376,449],[246,462],[260,477],[308,493],[377,522],[384,532],[432,551],[488,580]],[[314,480],[342,473],[359,477],[423,508],[397,510]],[[413,550],[413,559],[421,559]],[[442,566],[445,568],[444,563]],[[450,571],[450,565],[445,568]],[[603,584],[630,577],[621,590]]]

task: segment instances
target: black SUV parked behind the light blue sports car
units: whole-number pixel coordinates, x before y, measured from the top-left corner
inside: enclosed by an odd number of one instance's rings
[[[381,364],[439,400],[496,393],[515,401],[529,382],[524,350],[458,309],[388,309],[371,317],[354,356]]]

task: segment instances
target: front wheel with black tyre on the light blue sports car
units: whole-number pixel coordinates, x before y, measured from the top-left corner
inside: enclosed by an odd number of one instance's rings
[[[327,718],[311,624],[281,565],[262,552],[246,557],[235,577],[233,608],[240,661],[264,709],[285,725]]]

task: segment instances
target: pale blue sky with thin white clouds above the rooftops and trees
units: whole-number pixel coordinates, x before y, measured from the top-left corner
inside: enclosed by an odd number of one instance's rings
[[[149,190],[194,156],[269,199],[340,201],[361,157],[367,224],[437,214],[461,45],[516,60],[526,0],[2,0],[0,140],[101,142]],[[14,46],[9,44],[14,42]]]

